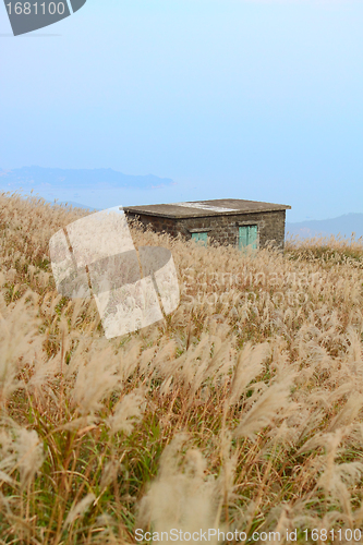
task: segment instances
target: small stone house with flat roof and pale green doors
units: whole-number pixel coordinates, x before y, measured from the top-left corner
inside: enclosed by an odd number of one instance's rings
[[[239,198],[172,203],[123,208],[129,219],[138,219],[154,231],[178,233],[201,244],[216,241],[243,249],[271,243],[283,250],[286,210],[291,206]]]

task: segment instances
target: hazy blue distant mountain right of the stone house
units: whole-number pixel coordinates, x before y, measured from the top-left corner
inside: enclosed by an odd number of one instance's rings
[[[310,237],[329,237],[330,234],[351,238],[363,237],[363,214],[344,214],[338,218],[301,221],[299,223],[286,223],[286,232],[289,235],[299,235],[302,239]]]

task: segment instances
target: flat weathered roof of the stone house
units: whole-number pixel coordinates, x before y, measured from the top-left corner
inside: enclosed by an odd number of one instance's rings
[[[261,203],[258,201],[242,201],[241,198],[217,198],[214,201],[195,201],[189,203],[170,203],[145,206],[124,206],[125,213],[162,218],[201,218],[206,216],[232,216],[237,214],[253,214],[258,211],[275,211],[290,209],[289,205]]]

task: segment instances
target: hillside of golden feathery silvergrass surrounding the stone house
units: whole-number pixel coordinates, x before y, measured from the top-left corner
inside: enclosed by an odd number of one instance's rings
[[[0,195],[0,543],[346,543],[363,524],[360,244],[242,255],[135,226],[136,246],[171,249],[181,304],[107,340],[49,263],[85,214]]]

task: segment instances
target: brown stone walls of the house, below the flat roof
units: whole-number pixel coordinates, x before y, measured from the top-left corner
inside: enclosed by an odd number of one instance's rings
[[[185,219],[172,219],[157,216],[126,213],[128,218],[137,217],[145,227],[152,227],[156,232],[167,232],[173,237],[178,233],[186,239],[192,232],[207,231],[210,241],[219,244],[238,246],[239,227],[257,225],[258,247],[273,243],[283,250],[286,210],[261,211],[253,214],[233,214],[223,216],[207,216]]]

